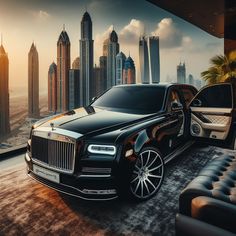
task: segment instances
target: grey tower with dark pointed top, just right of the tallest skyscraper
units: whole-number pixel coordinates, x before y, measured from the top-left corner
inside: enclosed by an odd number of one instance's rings
[[[118,36],[114,30],[109,35],[107,55],[107,88],[116,85],[116,55],[119,52]]]

